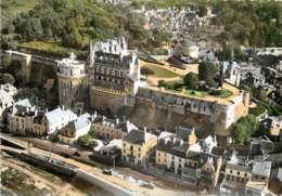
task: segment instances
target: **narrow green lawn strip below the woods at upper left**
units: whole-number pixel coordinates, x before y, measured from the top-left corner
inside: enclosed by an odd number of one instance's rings
[[[77,55],[87,55],[87,51],[65,48],[56,42],[30,41],[22,43],[20,47],[41,54],[51,54],[56,56],[68,56],[72,52]]]

